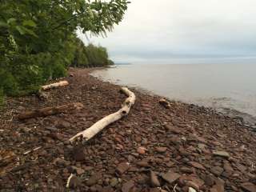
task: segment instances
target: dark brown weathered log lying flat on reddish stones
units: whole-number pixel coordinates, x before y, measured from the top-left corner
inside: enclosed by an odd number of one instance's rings
[[[67,105],[62,106],[48,106],[39,110],[30,110],[23,112],[18,115],[19,119],[27,119],[27,118],[37,118],[37,117],[46,117],[48,115],[66,113],[72,110],[81,110],[83,108],[83,104],[81,102],[74,102]]]

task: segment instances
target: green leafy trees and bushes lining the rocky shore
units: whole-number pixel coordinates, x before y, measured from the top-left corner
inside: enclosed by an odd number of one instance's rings
[[[84,46],[75,37],[104,35],[122,21],[127,0],[1,0],[0,90],[7,95],[33,93],[67,66],[105,66],[106,49]]]

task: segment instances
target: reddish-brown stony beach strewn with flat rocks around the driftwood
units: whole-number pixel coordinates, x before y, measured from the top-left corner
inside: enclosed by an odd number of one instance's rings
[[[239,119],[133,90],[130,114],[86,146],[67,139],[118,110],[119,86],[70,69],[70,86],[8,98],[0,117],[0,191],[256,191],[256,134]],[[20,121],[28,109],[82,102],[83,110]],[[66,181],[74,174],[71,186]]]

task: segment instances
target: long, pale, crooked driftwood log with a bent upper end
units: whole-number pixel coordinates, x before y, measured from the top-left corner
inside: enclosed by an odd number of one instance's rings
[[[85,141],[93,138],[95,134],[98,134],[101,130],[103,130],[106,126],[110,125],[112,122],[118,121],[120,118],[126,116],[130,112],[130,107],[134,105],[136,96],[133,92],[128,90],[126,87],[122,87],[122,92],[128,96],[126,101],[123,102],[122,108],[115,112],[114,114],[109,114],[105,118],[102,118],[98,122],[95,122],[93,126],[90,128],[83,130],[82,132],[74,135],[74,137],[70,138],[70,142],[74,142],[76,138],[82,137]]]

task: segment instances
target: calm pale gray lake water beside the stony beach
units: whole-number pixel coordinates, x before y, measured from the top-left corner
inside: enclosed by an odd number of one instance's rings
[[[210,106],[256,125],[256,64],[131,64],[93,75],[176,101]]]

